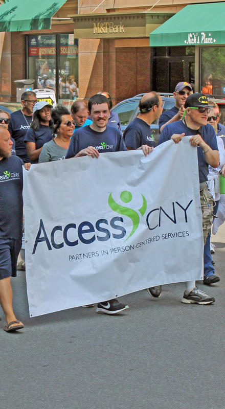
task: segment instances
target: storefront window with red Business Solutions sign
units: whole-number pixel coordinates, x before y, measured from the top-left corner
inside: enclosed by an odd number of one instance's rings
[[[28,79],[35,80],[34,88],[55,93],[58,88],[58,103],[70,107],[79,95],[78,39],[73,34],[28,36]]]

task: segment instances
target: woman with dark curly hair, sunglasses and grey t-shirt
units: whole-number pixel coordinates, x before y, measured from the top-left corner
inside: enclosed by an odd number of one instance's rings
[[[44,144],[39,156],[39,163],[65,159],[70,145],[75,122],[69,110],[64,105],[58,105],[52,110],[52,120],[55,137]]]

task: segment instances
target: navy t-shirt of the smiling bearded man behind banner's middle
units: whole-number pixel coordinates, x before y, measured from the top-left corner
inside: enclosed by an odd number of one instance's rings
[[[127,150],[119,129],[106,126],[103,132],[97,132],[88,125],[75,131],[65,158],[74,157],[88,146],[93,146],[99,153]]]

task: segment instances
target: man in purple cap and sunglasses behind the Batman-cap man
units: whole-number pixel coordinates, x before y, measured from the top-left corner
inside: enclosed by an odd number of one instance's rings
[[[171,124],[172,122],[176,122],[182,119],[185,111],[185,101],[191,94],[193,94],[191,84],[185,81],[178,82],[178,84],[176,84],[173,93],[173,96],[175,98],[175,106],[162,113],[159,120],[160,132],[162,132],[163,128],[167,124]]]

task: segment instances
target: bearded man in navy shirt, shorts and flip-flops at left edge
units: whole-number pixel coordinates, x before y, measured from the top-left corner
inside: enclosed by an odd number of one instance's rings
[[[11,155],[13,142],[7,127],[0,127],[0,304],[6,316],[5,331],[24,325],[16,320],[12,306],[11,276],[22,239],[22,161]]]

